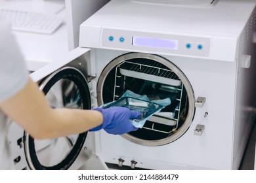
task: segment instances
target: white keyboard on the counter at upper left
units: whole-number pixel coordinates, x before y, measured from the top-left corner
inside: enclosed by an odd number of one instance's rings
[[[64,18],[56,14],[7,8],[0,8],[0,16],[11,24],[13,31],[30,33],[52,34],[64,22]]]

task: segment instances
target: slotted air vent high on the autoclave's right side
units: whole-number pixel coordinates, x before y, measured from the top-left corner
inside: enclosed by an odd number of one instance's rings
[[[240,35],[239,52],[242,52],[245,46],[245,42],[247,41],[247,39],[255,29],[255,25],[256,25],[256,13],[254,13],[253,16],[251,16],[250,20],[247,22],[247,24],[245,25],[242,31],[242,35]]]

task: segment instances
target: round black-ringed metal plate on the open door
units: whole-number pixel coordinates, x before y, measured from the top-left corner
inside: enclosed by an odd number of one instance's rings
[[[89,86],[85,76],[74,67],[64,67],[39,83],[40,90],[53,108],[91,108]],[[87,132],[35,140],[24,133],[25,154],[30,169],[68,169],[87,137]]]

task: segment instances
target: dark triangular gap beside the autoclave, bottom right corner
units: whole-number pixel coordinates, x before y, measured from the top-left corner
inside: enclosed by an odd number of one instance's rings
[[[251,131],[251,135],[249,137],[249,141],[247,142],[247,146],[245,148],[244,157],[240,164],[241,170],[253,170],[254,162],[255,162],[255,142],[256,142],[256,122]]]

